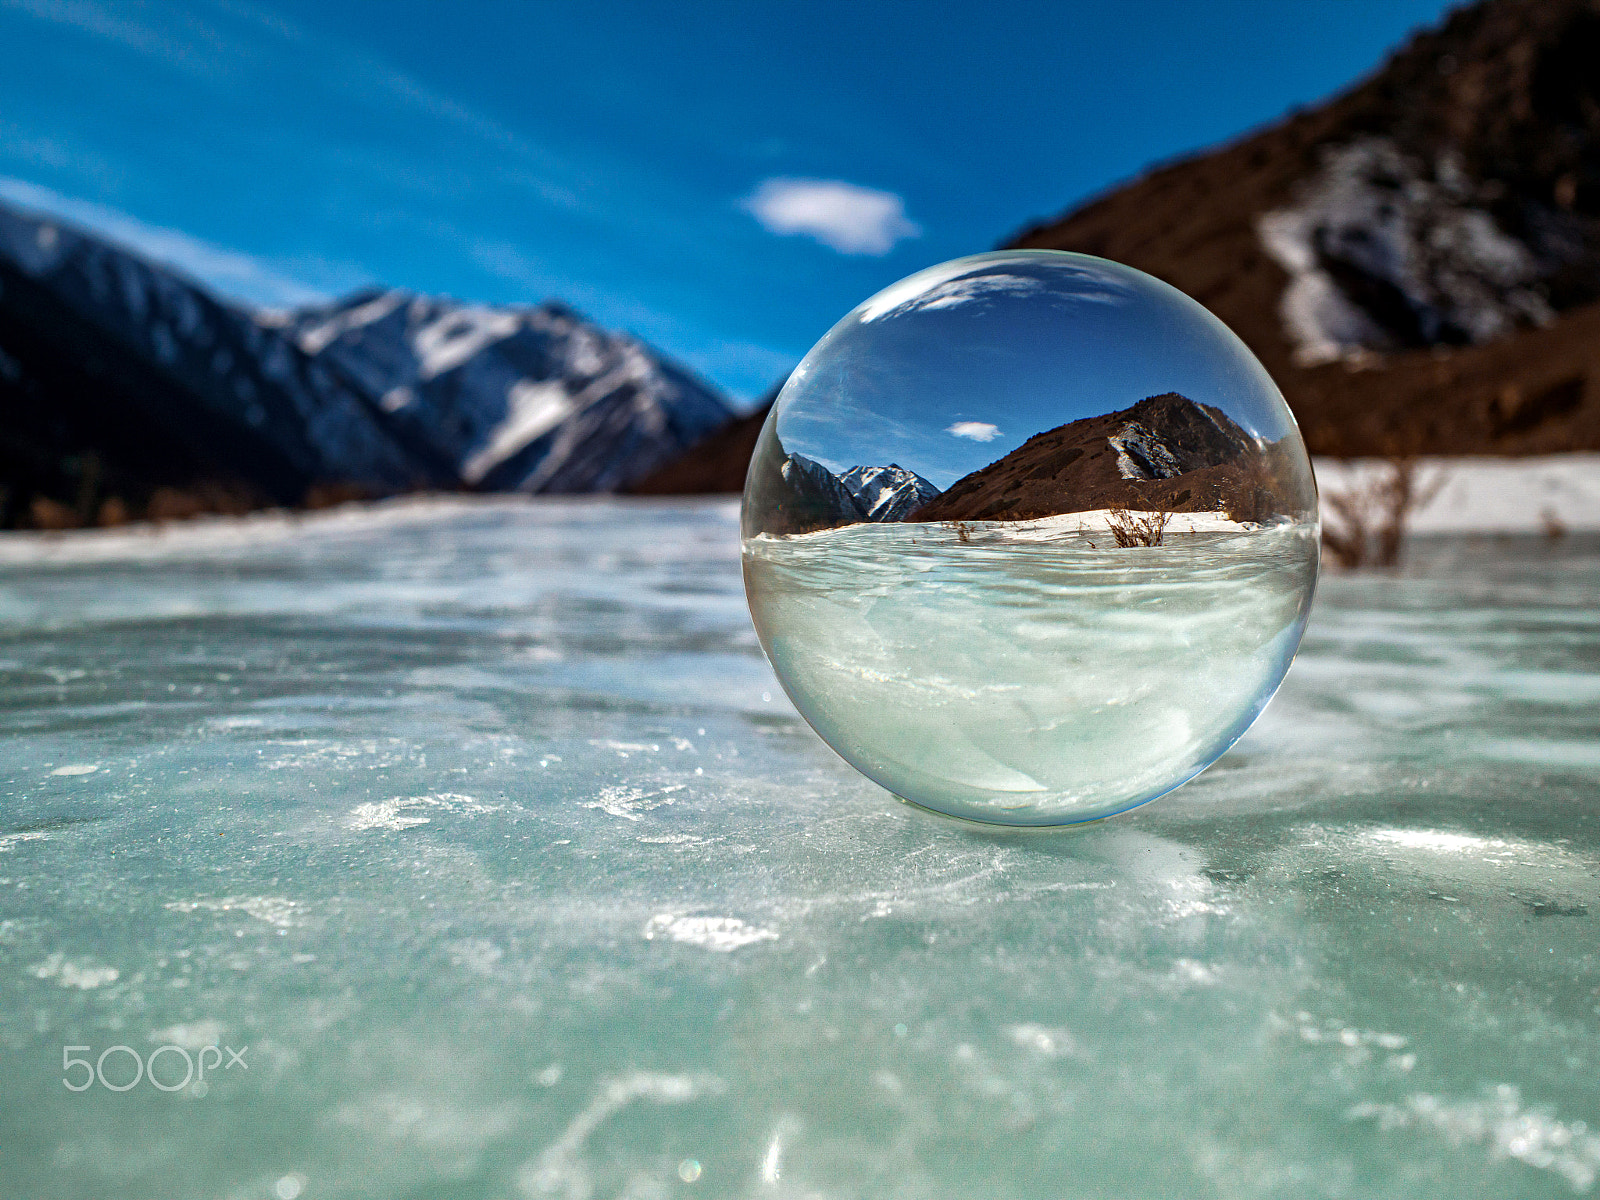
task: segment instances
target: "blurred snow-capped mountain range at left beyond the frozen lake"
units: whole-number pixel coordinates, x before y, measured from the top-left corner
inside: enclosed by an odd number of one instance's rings
[[[370,291],[253,312],[0,205],[0,486],[93,520],[162,486],[611,491],[722,427],[707,384],[560,304]],[[22,509],[19,509],[22,506]]]

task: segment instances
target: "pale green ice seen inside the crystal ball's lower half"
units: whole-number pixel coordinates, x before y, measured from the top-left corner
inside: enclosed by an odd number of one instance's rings
[[[1002,824],[1104,818],[1194,778],[1270,699],[1317,526],[1117,549],[1061,528],[1075,517],[752,538],[750,613],[805,718],[896,795]]]

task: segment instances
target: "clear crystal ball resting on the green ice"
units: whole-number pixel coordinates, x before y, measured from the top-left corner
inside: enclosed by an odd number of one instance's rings
[[[1011,250],[829,330],[762,429],[741,541],[762,646],[848,763],[936,813],[1062,826],[1250,728],[1306,627],[1317,491],[1206,309]]]

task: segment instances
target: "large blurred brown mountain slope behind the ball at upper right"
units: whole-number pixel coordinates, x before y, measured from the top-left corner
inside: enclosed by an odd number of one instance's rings
[[[1382,195],[1371,206],[1341,192],[1350,176],[1368,194],[1390,189],[1402,218]],[[1261,229],[1318,184],[1312,266],[1374,331],[1322,363],[1286,328],[1291,272]],[[1432,211],[1406,218],[1406,189],[1432,189]],[[1469,302],[1466,318],[1461,304],[1429,310],[1429,280],[1400,294],[1360,245],[1398,246],[1414,266],[1429,235],[1459,242],[1483,229],[1480,213],[1525,269],[1485,285],[1498,307]],[[1403,219],[1410,243],[1395,235]],[[1266,363],[1312,453],[1600,450],[1600,0],[1459,10],[1328,104],[1154,170],[1011,245],[1117,259],[1198,299]],[[1459,262],[1414,272],[1430,267]]]

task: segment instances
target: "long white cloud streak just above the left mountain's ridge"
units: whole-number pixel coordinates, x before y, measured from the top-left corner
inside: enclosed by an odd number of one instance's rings
[[[115,208],[51,192],[24,179],[0,176],[0,200],[42,216],[56,216],[90,229],[126,250],[181,270],[200,283],[251,304],[294,307],[328,299],[326,293],[272,270],[261,259],[202,242],[176,229],[147,226]]]

